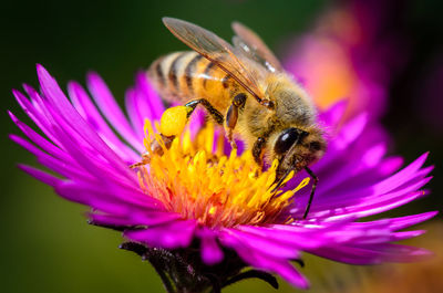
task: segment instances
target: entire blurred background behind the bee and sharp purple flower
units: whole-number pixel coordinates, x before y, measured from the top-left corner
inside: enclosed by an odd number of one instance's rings
[[[7,138],[9,133],[19,130],[6,111],[11,109],[29,122],[11,88],[20,88],[23,82],[37,86],[35,63],[43,64],[63,88],[69,80],[84,84],[86,72],[96,71],[123,102],[125,88],[132,85],[138,70],[146,69],[162,54],[185,50],[163,27],[162,17],[195,22],[227,40],[233,34],[230,22],[239,20],[257,31],[312,93],[327,93],[323,106],[343,95],[368,98],[364,100],[368,106],[382,105],[377,116],[392,135],[391,154],[411,163],[422,153],[431,151],[427,164],[435,165],[434,179],[427,185],[431,195],[392,214],[442,210],[442,11],[437,0],[3,2],[0,12],[1,291],[163,292],[148,263],[117,249],[122,242],[119,233],[86,224],[85,207],[62,200],[49,187],[16,168],[19,161],[32,165],[34,160]],[[318,49],[310,46],[310,40],[317,42],[322,38],[341,50],[338,55],[317,59],[310,54]],[[311,77],[310,72],[313,72]],[[331,81],[328,76],[336,79],[332,85],[328,84]],[[364,83],[360,84],[360,77]],[[364,90],[368,84],[379,90],[377,102],[356,90]],[[427,234],[411,243],[440,248],[443,252],[443,228],[437,219],[441,216],[427,224],[431,229]],[[308,257],[302,271],[315,284],[311,292],[384,292],[383,276],[408,280],[411,285],[406,287],[415,290],[411,292],[443,292],[443,281],[436,273],[440,269],[441,257],[419,264],[369,269]],[[413,282],[419,286],[412,285]],[[374,284],[379,287],[373,287]],[[280,285],[279,292],[296,292],[285,282]],[[259,281],[246,281],[226,292],[245,290],[274,292]]]

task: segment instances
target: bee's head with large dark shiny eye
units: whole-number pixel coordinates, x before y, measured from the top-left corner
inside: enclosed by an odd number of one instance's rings
[[[288,170],[296,172],[318,160],[324,153],[326,142],[318,128],[290,127],[278,134],[274,144],[274,158],[279,160],[277,178]]]

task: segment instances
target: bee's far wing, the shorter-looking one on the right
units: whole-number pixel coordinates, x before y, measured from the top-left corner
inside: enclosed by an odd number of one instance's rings
[[[233,22],[235,48],[245,56],[264,65],[270,72],[281,72],[282,66],[265,42],[254,31],[239,22]]]

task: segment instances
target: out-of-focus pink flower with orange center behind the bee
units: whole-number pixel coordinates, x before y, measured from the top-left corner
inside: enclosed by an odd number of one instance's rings
[[[392,1],[391,1],[392,2]],[[408,45],[392,17],[390,1],[344,1],[320,15],[313,30],[297,38],[287,69],[326,109],[348,101],[346,118],[384,111],[389,83],[404,63]]]

